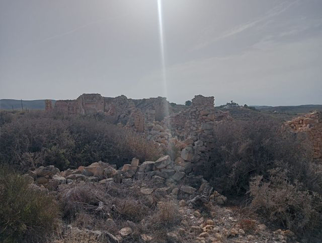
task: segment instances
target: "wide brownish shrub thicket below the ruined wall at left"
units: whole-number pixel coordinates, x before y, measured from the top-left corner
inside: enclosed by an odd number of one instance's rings
[[[7,113],[1,117],[10,120]],[[30,112],[3,121],[0,130],[1,163],[23,171],[50,164],[64,170],[99,160],[120,167],[133,157],[144,161],[161,156],[160,148],[144,136],[96,116]]]

